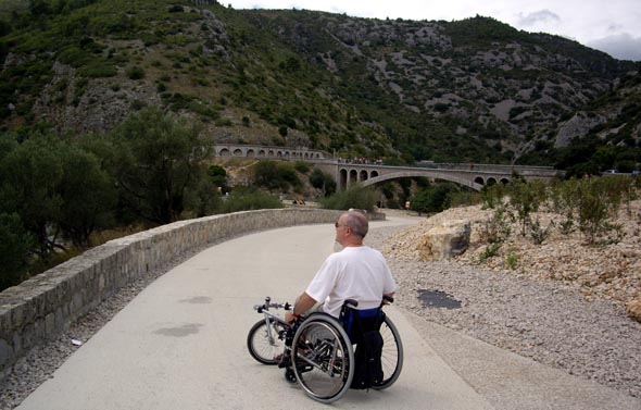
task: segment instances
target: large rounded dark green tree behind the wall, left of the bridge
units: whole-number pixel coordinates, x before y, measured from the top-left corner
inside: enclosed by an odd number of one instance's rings
[[[185,196],[194,189],[201,161],[209,151],[199,129],[174,121],[158,108],[133,114],[117,126],[112,166],[122,203],[138,216],[159,224],[176,221],[185,210]]]

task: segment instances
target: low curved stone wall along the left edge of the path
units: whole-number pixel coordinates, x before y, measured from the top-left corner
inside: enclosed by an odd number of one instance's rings
[[[120,287],[206,244],[248,233],[331,223],[341,211],[279,209],[180,221],[110,240],[0,293],[0,374],[60,335]],[[369,215],[385,219],[385,215]]]

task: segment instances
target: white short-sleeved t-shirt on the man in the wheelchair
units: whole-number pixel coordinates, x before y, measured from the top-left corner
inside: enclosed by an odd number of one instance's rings
[[[338,318],[345,299],[359,301],[357,309],[380,306],[384,294],[397,290],[397,284],[384,256],[368,246],[347,247],[327,257],[305,293],[325,301],[323,311]]]

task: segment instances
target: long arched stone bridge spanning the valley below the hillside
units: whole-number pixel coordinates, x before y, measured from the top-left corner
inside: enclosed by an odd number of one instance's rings
[[[264,147],[249,145],[216,145],[217,157],[304,160],[334,175],[339,189],[351,184],[374,185],[403,177],[427,177],[450,181],[474,190],[481,190],[485,185],[506,184],[512,181],[514,172],[526,181],[551,179],[558,171],[552,166],[494,165],[474,163],[432,163],[422,162],[416,166],[390,166],[380,163],[347,161],[334,156],[307,148]]]

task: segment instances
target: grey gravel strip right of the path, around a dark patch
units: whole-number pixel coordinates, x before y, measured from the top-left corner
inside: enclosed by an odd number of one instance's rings
[[[403,227],[373,229],[368,245],[385,250]],[[641,323],[608,300],[587,301],[576,286],[456,262],[386,254],[397,305],[426,320],[512,350],[569,374],[641,397]],[[438,290],[460,309],[426,307],[420,290]]]

